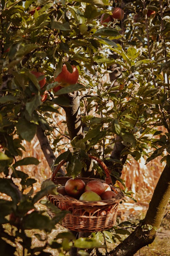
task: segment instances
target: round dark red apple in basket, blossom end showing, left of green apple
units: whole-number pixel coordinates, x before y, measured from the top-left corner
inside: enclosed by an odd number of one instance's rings
[[[86,184],[83,180],[75,178],[69,179],[65,184],[65,190],[67,195],[79,198],[80,195],[84,192]]]

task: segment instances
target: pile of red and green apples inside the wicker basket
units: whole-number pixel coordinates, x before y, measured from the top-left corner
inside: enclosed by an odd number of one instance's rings
[[[62,202],[62,200],[57,204],[57,207],[61,210],[68,210],[72,212],[73,205],[75,199],[79,201],[89,201],[89,202],[98,202],[102,200],[109,200],[117,197],[116,190],[115,192],[112,190],[113,186],[109,186],[107,183],[100,182],[98,180],[91,180],[85,184],[82,179],[75,178],[69,179],[65,183],[65,186],[59,186],[57,191],[59,195],[63,195],[65,198],[68,198],[67,203]],[[70,199],[70,201],[69,201]],[[102,207],[103,209],[103,207]],[[75,208],[74,208],[75,210]],[[80,209],[77,209],[74,214],[80,214]],[[92,207],[91,209],[83,209],[84,212],[94,213],[96,207]],[[81,211],[82,214],[82,211]],[[105,212],[101,212],[100,215],[105,214]]]

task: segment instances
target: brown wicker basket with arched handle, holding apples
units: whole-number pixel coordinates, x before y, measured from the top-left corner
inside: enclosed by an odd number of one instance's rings
[[[91,180],[98,180],[103,183],[107,183],[111,186],[112,190],[117,194],[117,197],[109,200],[102,200],[96,202],[89,201],[80,201],[72,197],[59,195],[51,195],[48,194],[47,198],[51,203],[56,205],[60,204],[59,209],[62,208],[67,209],[70,213],[67,213],[65,217],[62,219],[62,226],[68,228],[73,231],[84,231],[84,232],[94,232],[94,231],[102,231],[113,227],[116,223],[118,204],[123,199],[123,193],[120,189],[115,188],[113,186],[111,177],[109,175],[109,171],[103,161],[95,156],[89,155],[89,158],[96,160],[103,170],[106,173],[105,181],[95,178],[80,178],[85,184],[87,184]],[[55,168],[52,173],[51,180],[55,184],[60,184],[62,186],[65,185],[66,181],[71,177],[55,177],[57,171],[61,168],[61,166],[65,163],[65,160],[62,160]],[[49,209],[47,210],[50,217],[54,217],[55,214],[51,212]]]

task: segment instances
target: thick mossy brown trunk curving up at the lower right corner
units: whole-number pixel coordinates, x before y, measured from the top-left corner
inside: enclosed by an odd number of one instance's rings
[[[110,256],[133,256],[140,248],[152,243],[157,234],[156,229],[163,220],[169,198],[170,167],[166,165],[154,190],[145,219],[130,236],[110,252]],[[144,225],[146,225],[145,230],[143,230]],[[147,227],[149,228],[148,225],[152,226],[151,230],[146,230]]]

